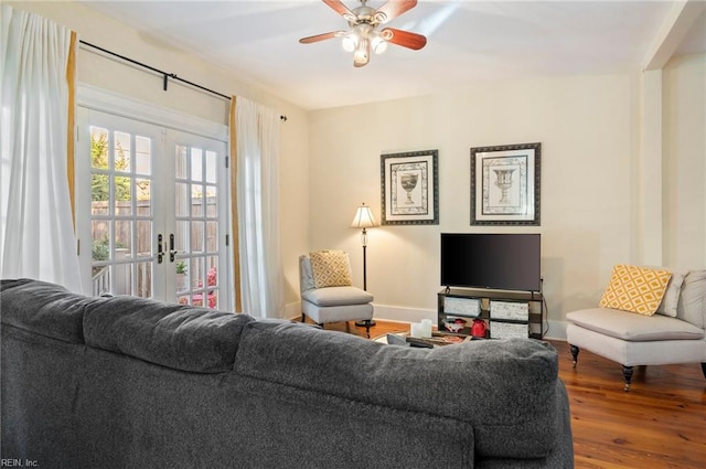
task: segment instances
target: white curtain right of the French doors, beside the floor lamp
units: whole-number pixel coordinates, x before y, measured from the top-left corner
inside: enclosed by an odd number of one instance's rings
[[[237,207],[243,312],[284,317],[279,245],[279,116],[236,100]]]

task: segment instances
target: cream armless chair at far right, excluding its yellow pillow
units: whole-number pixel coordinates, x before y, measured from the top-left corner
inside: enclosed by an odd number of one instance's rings
[[[624,391],[638,365],[700,363],[706,376],[706,270],[672,270],[654,316],[592,308],[569,312],[566,319],[574,367],[580,349],[618,362]]]

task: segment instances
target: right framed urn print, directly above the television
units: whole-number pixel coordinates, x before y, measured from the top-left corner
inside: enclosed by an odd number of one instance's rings
[[[542,143],[471,148],[471,225],[539,225]]]

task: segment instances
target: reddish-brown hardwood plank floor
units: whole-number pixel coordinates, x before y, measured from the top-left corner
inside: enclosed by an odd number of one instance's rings
[[[376,322],[371,338],[409,330]],[[365,337],[353,322],[325,329]],[[582,350],[574,369],[568,344],[549,342],[569,395],[577,469],[706,468],[706,379],[698,364],[635,367],[625,393],[619,364]]]

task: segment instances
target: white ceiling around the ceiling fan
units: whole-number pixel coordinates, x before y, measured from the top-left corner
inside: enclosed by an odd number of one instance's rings
[[[357,0],[343,1],[350,9],[360,6]],[[411,51],[391,44],[367,66],[354,68],[340,39],[298,42],[347,29],[345,20],[320,0],[86,2],[136,28],[148,41],[220,63],[246,83],[304,109],[427,95],[473,81],[641,66],[668,23],[673,3],[420,0],[388,25],[426,35],[426,47]],[[706,51],[705,24],[702,12],[677,54]]]

